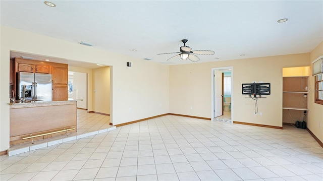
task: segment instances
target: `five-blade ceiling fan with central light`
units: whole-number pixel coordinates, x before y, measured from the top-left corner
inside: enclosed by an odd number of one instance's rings
[[[172,52],[172,53],[180,53],[180,54],[167,59],[167,61],[180,56],[183,60],[189,59],[192,62],[197,62],[200,60],[200,58],[198,56],[196,56],[195,54],[201,54],[201,55],[213,55],[214,54],[214,51],[212,51],[212,50],[194,50],[194,51],[192,51],[192,48],[185,45],[185,43],[187,41],[188,41],[187,39],[183,39],[182,42],[184,43],[184,46],[180,47],[180,52]],[[171,53],[158,53],[158,54],[171,54]]]

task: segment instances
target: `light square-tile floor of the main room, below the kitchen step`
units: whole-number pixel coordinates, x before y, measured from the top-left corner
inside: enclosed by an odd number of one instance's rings
[[[175,115],[0,159],[0,180],[323,180],[306,130]]]

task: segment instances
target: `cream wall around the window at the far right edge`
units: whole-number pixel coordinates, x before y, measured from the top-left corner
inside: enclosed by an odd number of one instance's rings
[[[317,45],[310,53],[309,64],[309,95],[308,95],[308,118],[309,123],[307,124],[308,129],[321,141],[323,142],[323,105],[314,103],[314,77],[312,76],[312,61],[317,57],[323,55],[323,41]],[[320,125],[320,127],[319,127]]]

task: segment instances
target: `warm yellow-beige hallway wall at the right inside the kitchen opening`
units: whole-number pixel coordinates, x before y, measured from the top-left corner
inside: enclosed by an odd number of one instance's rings
[[[110,114],[110,67],[93,69],[93,111]]]

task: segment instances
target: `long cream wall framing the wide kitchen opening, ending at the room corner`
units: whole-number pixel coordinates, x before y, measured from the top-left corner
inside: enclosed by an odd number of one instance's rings
[[[0,37],[0,151],[9,148],[11,50],[112,66],[110,118],[115,125],[169,112],[169,67],[166,65],[6,26],[0,27]],[[132,62],[132,67],[127,67],[127,62]],[[90,99],[89,95],[92,102]]]

